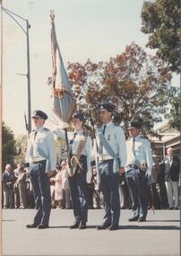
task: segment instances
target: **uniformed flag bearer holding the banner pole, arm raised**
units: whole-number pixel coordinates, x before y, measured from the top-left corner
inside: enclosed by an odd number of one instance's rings
[[[83,122],[82,112],[74,113],[72,118],[74,130],[67,133],[72,165],[71,168],[67,166],[74,215],[73,225],[70,226],[71,229],[85,229],[88,220],[87,181],[90,181],[91,175],[92,142],[83,130]],[[65,131],[62,129],[57,128],[54,133],[56,136],[65,138]]]

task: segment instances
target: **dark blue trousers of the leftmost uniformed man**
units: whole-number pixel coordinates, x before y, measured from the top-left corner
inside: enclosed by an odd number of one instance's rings
[[[37,214],[34,224],[48,225],[51,211],[50,185],[47,178],[46,160],[30,163],[30,181],[32,184]]]

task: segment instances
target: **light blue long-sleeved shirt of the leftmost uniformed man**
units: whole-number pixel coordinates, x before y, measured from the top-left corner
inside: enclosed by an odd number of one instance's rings
[[[25,161],[30,163],[34,159],[38,161],[47,159],[46,172],[54,171],[56,168],[55,139],[53,133],[47,128],[41,127],[30,133]]]

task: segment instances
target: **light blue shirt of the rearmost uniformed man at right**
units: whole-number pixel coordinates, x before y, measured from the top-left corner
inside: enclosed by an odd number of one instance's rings
[[[153,160],[152,160],[152,154],[151,154],[151,143],[148,141],[148,139],[141,136],[134,137],[134,150],[133,150],[133,137],[130,137],[126,141],[126,149],[127,149],[126,165],[135,164],[136,160],[138,160],[140,163],[143,163],[143,162],[147,163],[148,169],[146,172],[151,174]]]

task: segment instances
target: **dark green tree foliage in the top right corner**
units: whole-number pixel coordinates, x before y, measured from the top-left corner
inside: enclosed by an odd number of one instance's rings
[[[147,47],[158,49],[157,55],[170,70],[180,72],[180,1],[146,1],[142,6],[142,29],[150,34]]]

